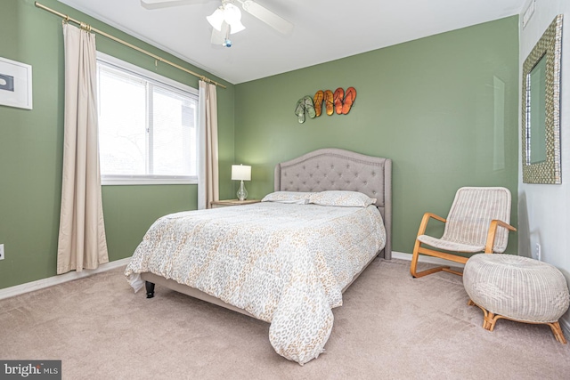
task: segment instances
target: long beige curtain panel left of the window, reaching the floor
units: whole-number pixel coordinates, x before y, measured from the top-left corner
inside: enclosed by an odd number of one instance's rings
[[[65,117],[57,273],[109,263],[97,135],[95,36],[63,24]]]

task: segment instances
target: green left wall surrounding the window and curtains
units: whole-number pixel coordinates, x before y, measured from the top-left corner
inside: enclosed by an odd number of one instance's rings
[[[55,0],[42,4],[69,14],[94,28],[211,77],[218,88],[221,175],[233,163],[234,85],[192,67],[149,44],[110,28]],[[31,0],[3,0],[0,12],[0,57],[32,66],[32,110],[0,106],[0,288],[56,274],[63,155],[63,36],[61,18],[34,6]],[[114,55],[198,88],[198,78],[155,62],[105,37],[97,50]],[[105,230],[110,261],[133,254],[144,232],[160,215],[195,209],[196,185],[104,186]],[[230,197],[232,191],[222,193]]]

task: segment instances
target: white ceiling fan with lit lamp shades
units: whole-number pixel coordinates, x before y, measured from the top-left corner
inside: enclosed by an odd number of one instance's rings
[[[141,0],[142,6],[147,9],[205,2],[206,0]],[[253,0],[222,0],[222,5],[206,18],[213,28],[210,40],[212,44],[232,47],[230,35],[246,28],[241,23],[240,8],[236,4],[283,35],[289,35],[293,31],[292,23]]]

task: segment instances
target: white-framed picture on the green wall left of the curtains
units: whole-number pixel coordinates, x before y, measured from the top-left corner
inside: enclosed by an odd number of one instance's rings
[[[0,105],[32,109],[32,67],[0,57]]]

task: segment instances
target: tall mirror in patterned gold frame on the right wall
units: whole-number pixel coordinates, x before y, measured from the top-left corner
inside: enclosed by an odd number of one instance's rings
[[[560,71],[562,14],[546,29],[523,64],[523,182],[562,183]]]

